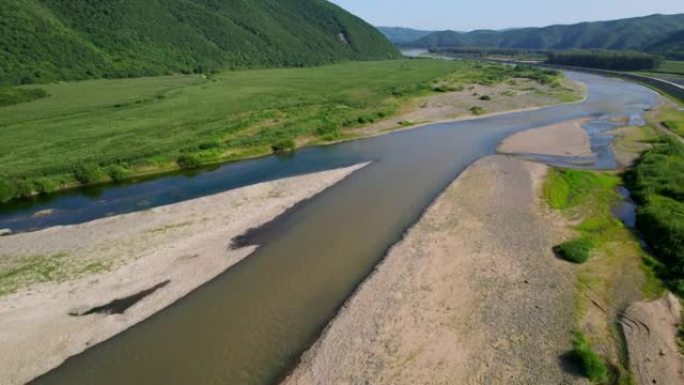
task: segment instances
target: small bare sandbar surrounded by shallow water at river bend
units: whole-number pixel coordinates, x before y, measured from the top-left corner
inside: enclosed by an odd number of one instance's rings
[[[498,148],[504,154],[592,156],[589,135],[582,128],[587,119],[533,128],[511,135]]]

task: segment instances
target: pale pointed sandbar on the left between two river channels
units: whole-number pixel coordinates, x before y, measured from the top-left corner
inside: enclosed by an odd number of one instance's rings
[[[64,264],[108,266],[62,282],[27,284],[0,297],[0,384],[23,384],[170,305],[254,250],[232,250],[233,237],[362,166],[0,238],[0,261],[16,264],[15,269],[32,256],[56,254],[63,254]],[[157,285],[162,287],[123,314],[70,315]]]

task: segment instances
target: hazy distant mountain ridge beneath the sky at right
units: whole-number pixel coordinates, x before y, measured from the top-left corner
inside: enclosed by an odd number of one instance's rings
[[[644,50],[654,42],[684,29],[684,14],[651,15],[543,28],[507,31],[479,30],[467,33],[441,31],[424,36],[405,46],[498,47],[528,49],[633,49]],[[679,35],[673,39],[679,38]]]

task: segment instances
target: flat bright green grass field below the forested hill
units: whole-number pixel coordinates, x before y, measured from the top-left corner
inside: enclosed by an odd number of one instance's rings
[[[27,86],[49,96],[0,108],[0,201],[339,140],[438,86],[514,76],[555,75],[398,60]]]

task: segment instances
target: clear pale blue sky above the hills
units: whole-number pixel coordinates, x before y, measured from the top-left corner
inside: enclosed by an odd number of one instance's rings
[[[331,0],[376,26],[503,29],[684,13],[684,0]]]

